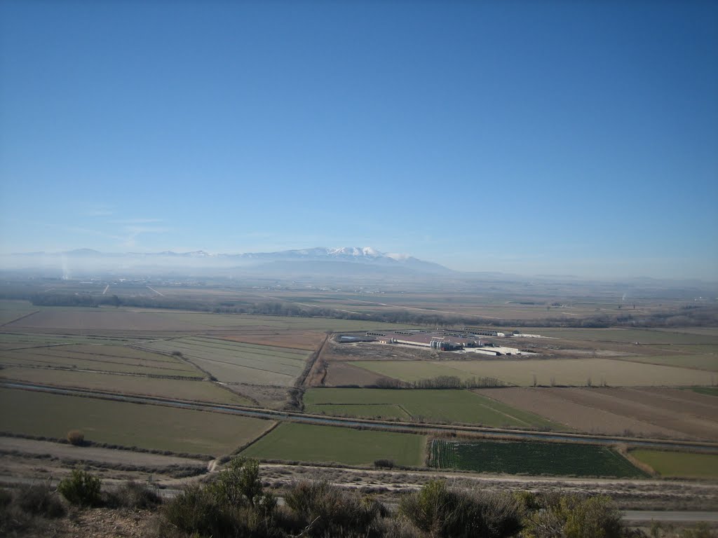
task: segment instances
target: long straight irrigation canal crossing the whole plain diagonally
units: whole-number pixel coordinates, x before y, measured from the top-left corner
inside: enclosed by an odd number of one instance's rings
[[[457,426],[430,423],[388,422],[385,420],[352,419],[342,417],[325,417],[323,415],[309,415],[302,412],[277,411],[258,407],[244,407],[241,405],[222,405],[209,402],[192,402],[190,400],[174,400],[156,396],[134,396],[98,390],[69,389],[54,387],[45,384],[32,384],[23,382],[0,382],[0,387],[9,389],[34,390],[50,392],[52,394],[82,396],[98,398],[101,400],[115,400],[150,405],[164,405],[167,407],[182,407],[209,412],[223,412],[246,417],[256,417],[266,420],[286,420],[296,423],[306,423],[325,426],[340,426],[343,428],[367,428],[371,430],[386,430],[409,433],[472,433],[479,437],[500,438],[505,440],[538,440],[561,441],[564,443],[588,443],[592,445],[615,445],[623,443],[631,446],[646,448],[663,448],[668,450],[698,450],[707,453],[718,453],[718,443],[681,441],[665,439],[630,438],[609,435],[584,435],[579,433],[549,433],[526,430],[510,430],[504,428],[483,428],[481,426]]]

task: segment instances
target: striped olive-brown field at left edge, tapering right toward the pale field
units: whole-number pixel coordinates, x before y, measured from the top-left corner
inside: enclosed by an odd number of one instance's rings
[[[0,364],[168,377],[205,377],[197,368],[180,359],[127,346],[63,345],[5,350],[0,351]]]

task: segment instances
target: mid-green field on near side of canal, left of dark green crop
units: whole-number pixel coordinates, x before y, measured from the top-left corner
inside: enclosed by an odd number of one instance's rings
[[[335,426],[281,423],[250,445],[243,456],[269,460],[324,461],[370,465],[390,459],[397,465],[420,466],[424,462],[424,435],[353,430]]]

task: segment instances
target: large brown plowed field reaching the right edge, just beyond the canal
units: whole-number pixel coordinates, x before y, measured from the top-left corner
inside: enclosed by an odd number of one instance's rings
[[[587,433],[718,439],[718,400],[673,389],[519,388],[477,390]],[[712,410],[712,411],[711,411]]]

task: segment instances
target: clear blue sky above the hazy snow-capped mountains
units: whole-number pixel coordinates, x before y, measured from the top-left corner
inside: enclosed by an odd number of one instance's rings
[[[0,252],[718,280],[718,4],[0,3]]]

